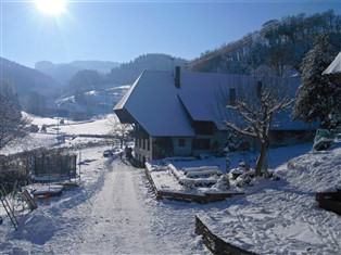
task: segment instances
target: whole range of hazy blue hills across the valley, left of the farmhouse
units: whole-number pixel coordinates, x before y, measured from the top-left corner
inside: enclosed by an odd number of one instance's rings
[[[121,65],[102,61],[75,61],[70,64],[42,61],[36,64],[36,69],[31,69],[1,59],[1,78],[12,81],[21,95],[23,109],[29,113],[46,115],[55,114],[54,110],[64,110],[70,114],[90,117],[111,113],[144,69],[172,71],[177,65],[185,67],[186,63],[184,59],[156,53],[144,54]],[[94,84],[84,82],[77,88],[71,86],[68,80],[75,75],[79,76],[78,80],[91,80],[86,78],[90,69],[100,73]]]

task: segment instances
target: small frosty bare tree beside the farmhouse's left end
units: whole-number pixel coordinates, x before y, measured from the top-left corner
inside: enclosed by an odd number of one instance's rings
[[[123,149],[124,142],[127,140],[129,133],[132,131],[132,125],[122,124],[116,115],[109,116],[108,120],[111,128],[108,135],[112,136],[114,140],[118,140],[119,148]]]

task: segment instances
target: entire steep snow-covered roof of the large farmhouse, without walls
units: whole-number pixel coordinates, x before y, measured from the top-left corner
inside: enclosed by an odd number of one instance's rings
[[[229,94],[229,89],[252,84],[251,79],[254,81],[251,76],[181,72],[177,88],[173,72],[144,71],[114,111],[127,111],[151,136],[193,137],[190,119],[213,122],[224,129],[217,115],[226,109],[218,98]],[[305,128],[301,122],[290,122],[289,114],[279,118],[280,125],[277,119],[273,129]]]

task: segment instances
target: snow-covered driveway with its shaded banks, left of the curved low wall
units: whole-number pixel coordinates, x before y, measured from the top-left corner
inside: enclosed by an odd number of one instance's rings
[[[194,233],[194,215],[212,205],[156,201],[142,169],[84,151],[83,186],[37,201],[13,231],[0,228],[0,254],[211,254]]]

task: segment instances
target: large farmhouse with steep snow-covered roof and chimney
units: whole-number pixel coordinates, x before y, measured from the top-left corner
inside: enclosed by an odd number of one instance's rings
[[[233,103],[237,86],[250,76],[215,73],[144,71],[115,105],[121,123],[135,125],[135,157],[141,163],[166,156],[197,156],[224,146],[227,130],[219,114],[222,93]],[[254,77],[252,77],[254,81]],[[228,103],[228,102],[226,102]],[[225,104],[226,104],[225,103]],[[306,129],[286,114],[274,129]]]

